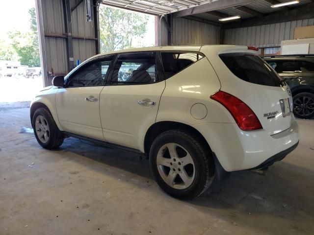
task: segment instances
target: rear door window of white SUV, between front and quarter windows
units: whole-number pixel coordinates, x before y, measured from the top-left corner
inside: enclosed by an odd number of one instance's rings
[[[135,52],[119,55],[110,84],[149,84],[156,81],[156,52]]]

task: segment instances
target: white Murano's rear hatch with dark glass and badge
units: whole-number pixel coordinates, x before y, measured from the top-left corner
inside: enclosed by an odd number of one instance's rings
[[[221,91],[249,106],[269,135],[288,129],[292,118],[289,88],[257,51],[241,46],[215,50],[206,49],[205,54],[217,72]]]

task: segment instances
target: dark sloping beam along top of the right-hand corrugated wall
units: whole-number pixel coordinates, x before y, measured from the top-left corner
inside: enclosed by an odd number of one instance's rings
[[[224,24],[224,29],[251,27],[264,24],[276,24],[288,21],[297,21],[314,18],[314,4],[307,3],[302,7],[294,8],[288,11],[279,11],[277,13],[262,16],[255,19],[243,19],[241,22]]]

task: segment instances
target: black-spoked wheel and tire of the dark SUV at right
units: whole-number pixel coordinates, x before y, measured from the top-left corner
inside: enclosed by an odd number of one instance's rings
[[[303,92],[293,96],[293,114],[297,118],[314,117],[314,94]]]

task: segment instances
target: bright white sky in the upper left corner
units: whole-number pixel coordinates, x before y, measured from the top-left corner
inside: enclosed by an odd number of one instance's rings
[[[29,29],[28,9],[35,7],[35,0],[0,0],[1,24],[0,38],[6,39],[6,33],[12,29],[22,32]]]

